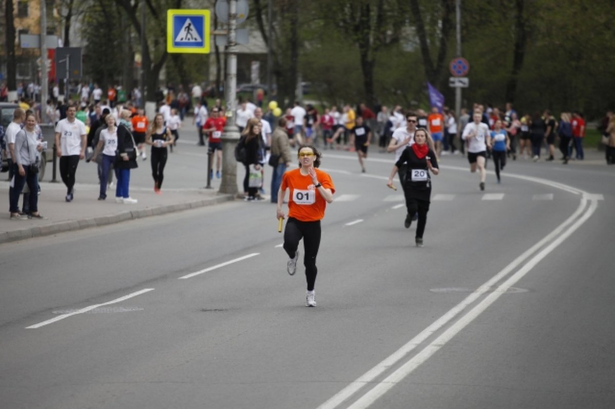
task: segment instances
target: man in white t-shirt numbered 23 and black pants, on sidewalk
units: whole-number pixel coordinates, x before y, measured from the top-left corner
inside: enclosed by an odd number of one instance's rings
[[[79,160],[85,158],[85,124],[75,118],[77,108],[69,105],[66,118],[55,126],[56,155],[60,158],[60,176],[66,185],[66,201],[73,201],[75,173]]]

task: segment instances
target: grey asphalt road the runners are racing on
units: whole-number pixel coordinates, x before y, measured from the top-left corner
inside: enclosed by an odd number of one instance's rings
[[[325,151],[315,309],[268,202],[0,246],[0,407],[615,407],[613,169],[445,157],[416,248],[391,166]]]

